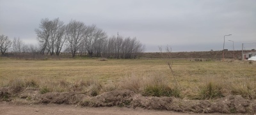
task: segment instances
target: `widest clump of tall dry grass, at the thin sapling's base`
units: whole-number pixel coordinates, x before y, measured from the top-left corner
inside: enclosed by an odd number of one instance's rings
[[[178,87],[170,87],[168,77],[152,73],[144,77],[132,75],[120,84],[122,89],[130,89],[143,96],[175,96],[180,97]]]

